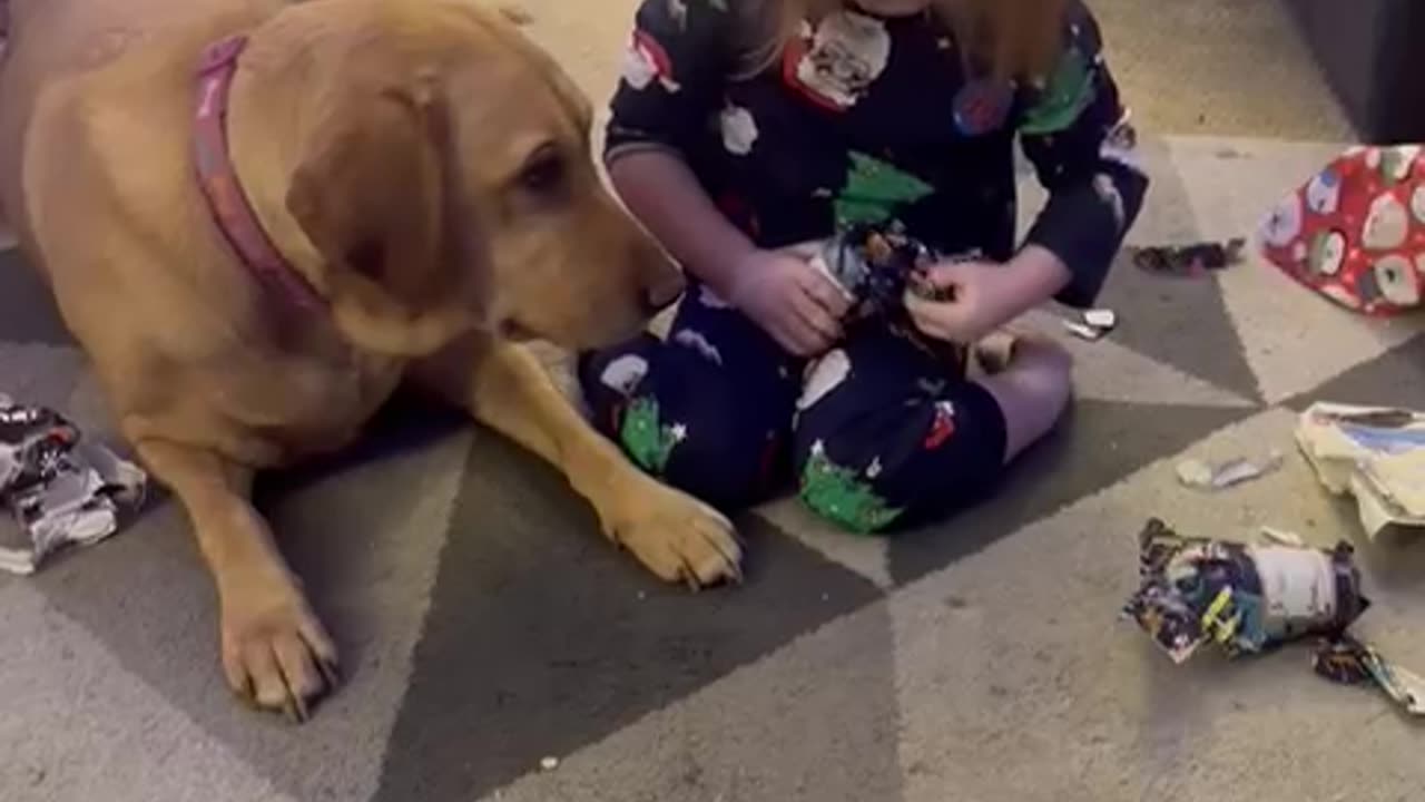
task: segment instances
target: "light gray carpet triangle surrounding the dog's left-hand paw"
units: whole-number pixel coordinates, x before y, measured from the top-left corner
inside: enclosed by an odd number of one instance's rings
[[[299,728],[244,709],[228,691],[212,584],[172,499],[56,562],[36,588],[185,711],[214,748],[299,799],[368,799],[406,695],[472,437],[419,420],[390,428],[342,464],[262,479],[259,508],[342,651],[342,686]]]

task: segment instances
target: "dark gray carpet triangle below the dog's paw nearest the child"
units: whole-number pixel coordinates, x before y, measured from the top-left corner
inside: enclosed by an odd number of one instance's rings
[[[663,585],[604,541],[563,477],[482,437],[378,799],[476,799],[881,598],[771,525],[741,524],[744,585]]]

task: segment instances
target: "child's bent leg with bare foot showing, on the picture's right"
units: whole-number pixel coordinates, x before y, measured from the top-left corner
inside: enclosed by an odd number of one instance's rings
[[[893,333],[856,333],[812,371],[797,424],[801,497],[861,532],[979,502],[1009,460],[1043,437],[1069,398],[1069,362],[1026,340],[982,381]]]

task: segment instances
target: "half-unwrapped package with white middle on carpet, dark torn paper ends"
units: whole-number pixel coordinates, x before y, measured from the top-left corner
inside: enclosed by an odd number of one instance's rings
[[[1178,664],[1208,642],[1237,655],[1340,635],[1369,606],[1349,544],[1322,551],[1190,538],[1157,518],[1139,535],[1139,578],[1123,615]]]

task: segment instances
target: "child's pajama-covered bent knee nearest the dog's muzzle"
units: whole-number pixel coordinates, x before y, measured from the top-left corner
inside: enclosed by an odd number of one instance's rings
[[[799,365],[700,285],[665,341],[584,354],[579,381],[600,431],[670,485],[731,511],[785,485]]]

